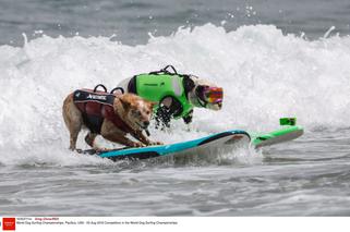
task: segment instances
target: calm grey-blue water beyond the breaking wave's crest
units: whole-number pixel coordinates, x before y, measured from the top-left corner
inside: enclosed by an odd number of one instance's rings
[[[113,36],[128,45],[145,44],[148,33],[169,36],[180,26],[213,23],[228,32],[241,25],[273,24],[285,34],[310,39],[349,34],[347,0],[27,0],[0,1],[0,44],[23,45],[49,36]]]

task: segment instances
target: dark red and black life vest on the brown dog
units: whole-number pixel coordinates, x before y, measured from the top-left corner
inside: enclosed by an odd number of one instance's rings
[[[113,102],[116,96],[90,89],[77,89],[73,93],[73,102],[83,114],[85,125],[93,133],[100,134],[104,120],[111,121],[125,133],[133,130],[114,113]]]

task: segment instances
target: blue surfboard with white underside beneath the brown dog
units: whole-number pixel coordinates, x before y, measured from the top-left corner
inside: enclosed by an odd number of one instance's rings
[[[241,144],[239,142],[249,144],[250,141],[251,137],[249,133],[240,130],[232,130],[176,144],[140,148],[121,148],[102,151],[97,155],[101,158],[108,158],[113,161],[121,159],[149,159],[169,155],[205,155],[208,152],[224,152],[225,150],[232,150],[234,146]]]

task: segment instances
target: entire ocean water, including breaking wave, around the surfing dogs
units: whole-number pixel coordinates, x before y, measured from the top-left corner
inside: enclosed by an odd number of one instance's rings
[[[0,215],[349,216],[349,13],[341,0],[0,1]],[[70,91],[167,64],[224,86],[224,109],[153,139],[281,117],[304,135],[185,163],[68,150]]]

